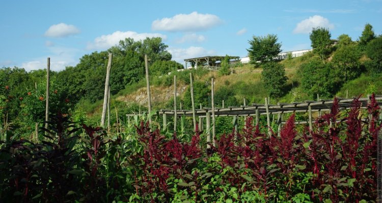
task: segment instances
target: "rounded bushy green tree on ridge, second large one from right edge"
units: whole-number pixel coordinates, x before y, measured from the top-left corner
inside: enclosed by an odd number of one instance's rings
[[[343,75],[343,82],[357,78],[361,74],[361,52],[357,45],[340,47],[333,54],[332,62],[337,66],[339,73]]]

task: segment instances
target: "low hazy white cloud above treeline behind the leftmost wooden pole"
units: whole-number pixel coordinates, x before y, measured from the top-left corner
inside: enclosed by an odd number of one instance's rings
[[[47,58],[50,57],[50,70],[61,71],[66,66],[74,66],[78,63],[76,53],[77,49],[66,47],[49,47],[50,54],[48,56],[34,58],[30,61],[21,63],[21,66],[25,71],[46,69]]]

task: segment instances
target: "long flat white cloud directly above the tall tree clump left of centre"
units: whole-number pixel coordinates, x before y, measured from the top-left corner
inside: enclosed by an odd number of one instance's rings
[[[119,41],[124,40],[125,38],[132,38],[135,41],[144,40],[146,38],[160,37],[163,40],[167,39],[166,35],[160,33],[137,33],[134,31],[115,31],[110,35],[102,35],[94,39],[94,42],[88,43],[87,49],[108,49],[114,45],[117,45]]]

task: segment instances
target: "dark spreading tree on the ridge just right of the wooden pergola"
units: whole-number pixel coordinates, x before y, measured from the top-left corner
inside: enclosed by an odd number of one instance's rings
[[[252,40],[248,41],[251,47],[247,49],[252,63],[274,61],[282,51],[281,44],[277,43],[277,40],[277,35],[253,36]]]

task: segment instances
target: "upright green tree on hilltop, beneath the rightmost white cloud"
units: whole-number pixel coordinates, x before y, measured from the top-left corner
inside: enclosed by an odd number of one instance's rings
[[[312,33],[310,33],[310,40],[312,42],[313,51],[317,53],[321,60],[324,60],[331,52],[332,37],[329,29],[324,27],[313,28]]]

